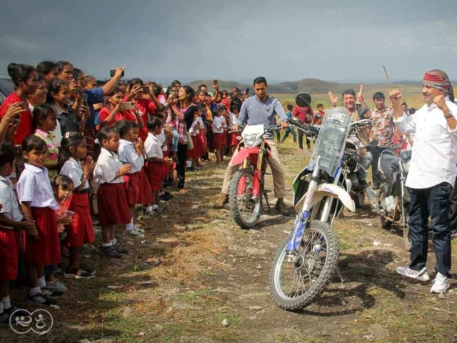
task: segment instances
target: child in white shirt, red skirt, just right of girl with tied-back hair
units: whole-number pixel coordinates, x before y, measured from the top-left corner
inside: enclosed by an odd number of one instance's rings
[[[122,164],[114,151],[119,149],[119,133],[104,127],[97,134],[101,144],[100,156],[94,169],[94,181],[100,184],[97,202],[103,236],[102,249],[108,257],[120,258],[126,250],[117,244],[114,225],[129,224],[131,216],[127,203],[124,175],[131,172],[130,164]]]

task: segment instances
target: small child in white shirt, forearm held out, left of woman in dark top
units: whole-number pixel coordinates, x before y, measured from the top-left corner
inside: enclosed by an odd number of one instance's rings
[[[173,160],[164,157],[162,146],[165,141],[161,136],[162,127],[164,126],[161,119],[151,116],[148,120],[148,137],[144,142],[144,151],[146,152],[146,174],[149,179],[153,194],[153,204],[159,204],[159,193],[164,182],[163,165],[173,165]]]

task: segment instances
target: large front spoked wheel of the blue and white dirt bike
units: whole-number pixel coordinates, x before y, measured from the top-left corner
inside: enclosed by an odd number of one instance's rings
[[[338,263],[338,239],[331,226],[313,221],[303,235],[298,256],[288,262],[284,239],[270,272],[270,293],[274,302],[288,311],[303,309],[330,283]]]

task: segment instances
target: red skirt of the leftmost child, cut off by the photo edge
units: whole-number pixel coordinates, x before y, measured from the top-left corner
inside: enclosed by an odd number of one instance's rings
[[[19,259],[19,232],[0,227],[0,280],[9,281],[17,278]]]

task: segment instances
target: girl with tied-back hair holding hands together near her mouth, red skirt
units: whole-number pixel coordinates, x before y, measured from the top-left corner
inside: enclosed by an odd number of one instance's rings
[[[59,174],[73,182],[73,196],[69,211],[74,212],[71,224],[66,228],[66,242],[70,250],[70,264],[66,267],[66,277],[91,277],[91,273],[79,269],[79,252],[84,244],[94,242],[94,225],[89,206],[89,173],[92,157],[87,155],[86,138],[79,132],[65,134],[59,149]],[[59,184],[56,184],[59,187]]]

